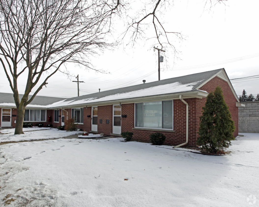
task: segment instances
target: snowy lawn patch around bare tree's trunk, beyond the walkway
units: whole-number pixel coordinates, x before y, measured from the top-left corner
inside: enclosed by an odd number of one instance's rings
[[[53,128],[23,128],[24,134],[14,135],[15,129],[0,131],[0,142],[20,142],[39,139],[55,139],[74,134],[82,134],[81,131],[61,131]]]

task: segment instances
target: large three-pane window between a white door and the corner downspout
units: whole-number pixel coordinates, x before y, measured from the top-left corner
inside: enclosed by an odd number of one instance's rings
[[[136,103],[135,127],[173,129],[173,101]]]

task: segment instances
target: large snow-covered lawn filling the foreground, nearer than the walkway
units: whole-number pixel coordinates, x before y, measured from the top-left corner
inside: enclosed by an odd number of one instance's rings
[[[226,156],[122,138],[1,145],[0,206],[258,206],[259,134],[244,135]]]

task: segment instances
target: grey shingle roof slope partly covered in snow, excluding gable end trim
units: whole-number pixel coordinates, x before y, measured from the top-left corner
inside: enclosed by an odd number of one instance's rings
[[[73,97],[68,99],[36,96],[34,100],[31,102],[31,104],[29,104],[27,107],[58,108],[78,105],[87,106],[88,104],[92,105],[95,103],[107,101],[112,102],[116,100],[128,100],[141,97],[143,98],[150,96],[160,96],[183,92],[199,91],[199,86],[201,86],[204,82],[206,82],[208,79],[213,77],[221,70],[224,71],[224,69],[217,69],[181,77],[159,80],[151,83],[139,84],[134,86],[117,88],[109,91],[82,95],[79,97]],[[14,104],[13,98],[10,99],[9,97],[9,102],[7,102],[6,98],[2,99],[3,96],[7,97],[8,95],[6,95],[6,93],[0,93],[1,106],[10,106],[10,104]],[[15,104],[13,106],[15,106]]]

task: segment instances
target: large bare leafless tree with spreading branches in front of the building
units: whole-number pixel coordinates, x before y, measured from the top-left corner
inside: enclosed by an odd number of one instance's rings
[[[212,1],[212,0],[211,0]],[[214,0],[213,2],[221,2]],[[141,23],[152,17],[154,36],[162,45],[162,36],[169,41],[168,32],[157,17],[159,6],[166,0],[149,0],[151,11],[142,10],[141,18],[130,18],[126,32],[133,41],[142,33]],[[15,134],[23,134],[25,107],[32,102],[47,80],[64,63],[76,63],[91,68],[88,56],[109,43],[113,18],[122,18],[127,4],[120,0],[1,0],[0,1],[0,61],[13,91],[17,107]],[[25,66],[24,66],[25,65]],[[22,67],[21,71],[18,67]],[[17,80],[27,74],[24,95],[19,100]],[[47,74],[43,77],[43,74]],[[34,90],[31,98],[29,93]]]

